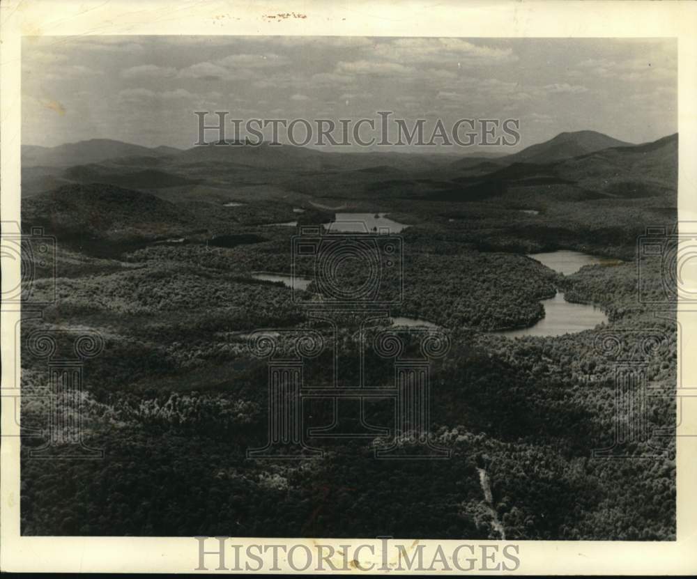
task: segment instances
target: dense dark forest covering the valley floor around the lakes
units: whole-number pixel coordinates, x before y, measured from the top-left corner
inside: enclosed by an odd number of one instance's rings
[[[675,424],[675,313],[662,309],[657,317],[638,299],[636,240],[648,225],[671,229],[675,199],[651,180],[648,191],[624,181],[595,187],[574,167],[554,167],[572,177],[523,186],[498,176],[503,185],[493,194],[457,202],[445,193],[429,199],[415,185],[399,198],[389,183],[382,198],[356,194],[352,210],[382,210],[408,225],[399,263],[404,288],[397,277],[382,288],[400,298],[391,315],[430,321],[450,341],[447,355],[431,361],[429,438],[451,456],[433,462],[376,460],[385,442],[378,435],[307,438],[322,457],[247,458],[268,435],[268,361],[250,352],[254,330],[319,332],[325,348],[305,371],[312,387],[332,386],[334,348],[342,384],[358,380],[362,362],[371,387],[389,389],[394,380],[392,362],[372,350],[387,321],[368,327],[368,338],[350,321],[332,332],[286,284],[254,277],[291,273],[298,228],[272,224],[335,218],[325,206],[339,199],[298,201],[314,187],[301,171],[274,178],[273,187],[296,185],[286,201],[250,193],[226,206],[238,197],[193,199],[178,182],[168,182],[170,201],[146,187],[142,199],[133,193],[132,211],[114,183],[64,185],[46,199],[27,199],[24,223],[44,226],[59,247],[57,299],[41,318],[24,321],[23,341],[60,330],[63,351],[85,330],[103,339],[103,351],[84,361],[82,409],[84,442],[104,458],[36,460],[30,453],[43,439],[27,436],[22,533],[500,539],[500,525],[506,539],[674,539],[675,441],[659,433]],[[453,183],[461,191],[483,187],[470,173],[449,181],[447,194]],[[360,178],[375,192],[372,174]],[[193,169],[189,177],[198,178]],[[348,187],[345,176],[335,178]],[[72,201],[64,204],[66,195]],[[530,209],[536,213],[522,211]],[[562,275],[528,256],[557,249],[616,261]],[[355,284],[363,267],[346,262],[342,283]],[[295,274],[312,279],[305,290],[312,299],[319,291],[312,268]],[[641,275],[642,291],[662,295],[660,263],[642,263]],[[35,298],[53,284],[36,280]],[[493,332],[534,325],[545,315],[540,302],[558,290],[569,302],[601,308],[607,323],[557,337]],[[617,351],[599,347],[608,335]],[[647,337],[650,348],[633,343]],[[621,410],[618,351],[633,353],[657,395],[647,399],[648,438],[603,454],[613,447]],[[25,348],[22,387],[40,392],[48,374],[45,357]],[[48,400],[23,398],[26,429],[42,428]],[[308,401],[303,412],[307,428],[334,418],[331,399]],[[394,412],[392,399],[367,401],[365,422],[394,429]]]

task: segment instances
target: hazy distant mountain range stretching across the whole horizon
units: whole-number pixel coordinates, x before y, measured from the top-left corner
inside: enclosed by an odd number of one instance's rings
[[[93,139],[22,148],[22,196],[104,183],[166,201],[337,206],[361,199],[481,201],[509,191],[565,199],[665,196],[677,189],[677,134],[634,145],[564,132],[503,157],[325,152],[290,145],[148,148]]]

